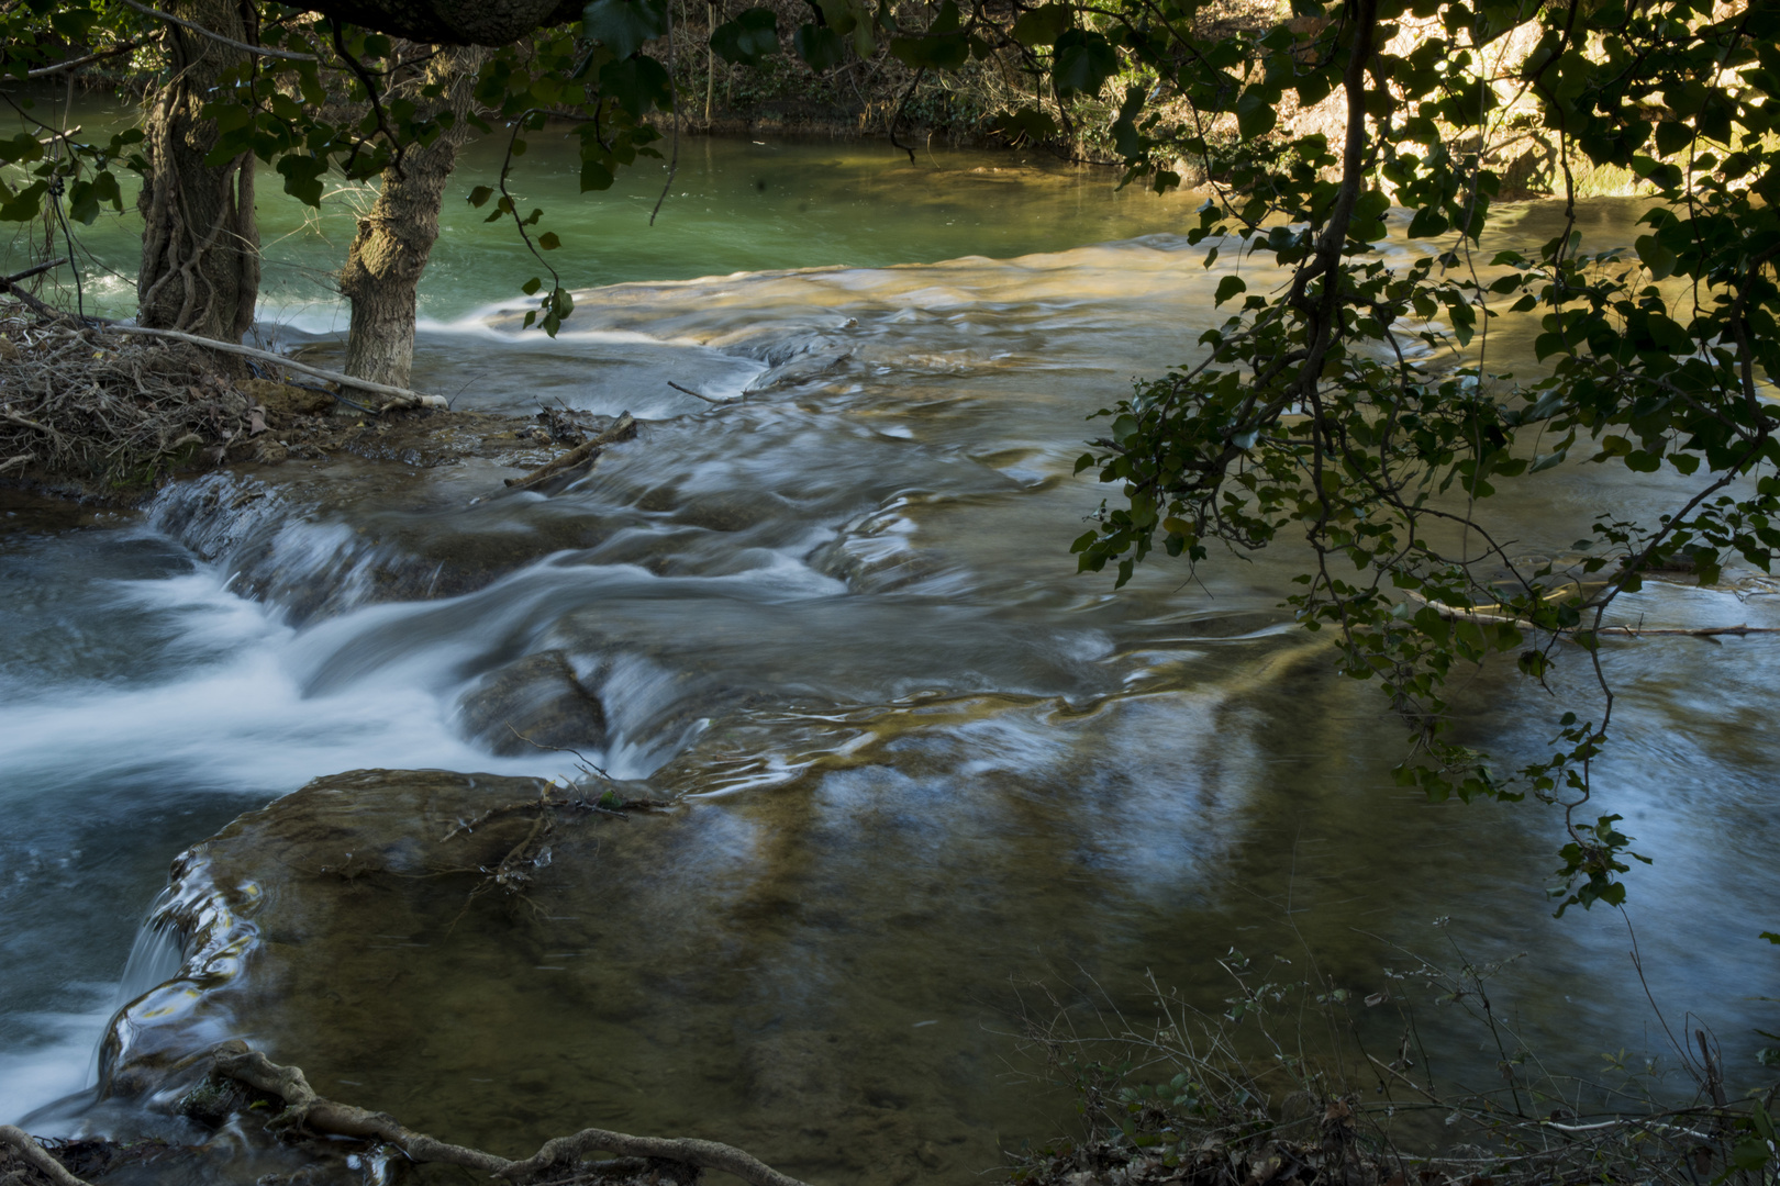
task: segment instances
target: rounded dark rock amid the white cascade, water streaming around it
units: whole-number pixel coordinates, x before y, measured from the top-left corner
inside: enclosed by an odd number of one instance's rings
[[[500,667],[457,701],[463,731],[495,754],[605,747],[605,713],[568,653],[539,651]]]

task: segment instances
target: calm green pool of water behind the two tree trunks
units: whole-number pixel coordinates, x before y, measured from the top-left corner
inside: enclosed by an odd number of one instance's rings
[[[41,108],[46,103],[39,103]],[[77,98],[73,119],[87,135],[134,119],[126,103]],[[1041,153],[922,148],[915,162],[879,142],[730,140],[682,137],[660,160],[639,158],[605,192],[578,192],[577,137],[552,128],[530,137],[509,188],[523,212],[543,208],[534,233],[555,231],[552,263],[570,288],[621,281],[692,279],[765,268],[883,267],[967,254],[995,258],[1175,231],[1196,204],[1184,196],[1120,190],[1118,169],[1070,165]],[[514,301],[543,274],[511,219],[488,224],[491,204],[468,204],[477,185],[498,181],[506,139],[468,146],[445,192],[440,240],[420,284],[420,317],[456,320],[493,301]],[[660,213],[650,224],[655,201]],[[331,276],[345,261],[356,219],[374,201],[370,183],[335,178],[320,208],[283,192],[260,167],[256,213],[263,251],[260,317],[312,333],[345,327]],[[135,188],[125,213],[75,228],[89,311],[134,315],[141,251]],[[30,261],[14,238],[0,267]],[[71,277],[57,293],[73,302]]]

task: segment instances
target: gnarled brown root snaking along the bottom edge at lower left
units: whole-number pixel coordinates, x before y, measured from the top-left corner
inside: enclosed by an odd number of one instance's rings
[[[559,1136],[545,1142],[530,1158],[511,1161],[491,1152],[482,1152],[481,1149],[452,1145],[425,1133],[415,1133],[381,1111],[367,1111],[365,1108],[324,1099],[315,1094],[315,1088],[310,1086],[299,1069],[279,1067],[260,1051],[242,1049],[239,1042],[219,1049],[215,1074],[285,1101],[283,1111],[265,1126],[269,1133],[303,1129],[319,1136],[384,1142],[400,1149],[409,1161],[457,1165],[466,1170],[481,1170],[495,1177],[504,1177],[509,1182],[525,1182],[541,1174],[584,1161],[591,1152],[603,1150],[619,1154],[621,1158],[676,1161],[701,1170],[723,1170],[749,1186],[805,1186],[805,1182],[780,1174],[753,1154],[733,1145],[691,1138],[632,1136],[609,1129],[582,1129],[573,1136]],[[595,1161],[589,1168],[600,1168],[602,1165],[607,1163]],[[646,1161],[621,1168],[641,1172],[646,1168]],[[75,1179],[71,1182],[59,1182],[59,1186],[84,1184]]]

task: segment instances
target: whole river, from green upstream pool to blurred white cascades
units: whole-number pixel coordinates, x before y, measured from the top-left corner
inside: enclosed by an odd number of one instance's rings
[[[361,766],[573,773],[468,740],[457,709],[541,651],[605,706],[591,757],[684,809],[614,841],[573,918],[367,935],[363,962],[262,1035],[326,1094],[509,1152],[596,1122],[744,1142],[819,1181],[963,1181],[1066,1126],[1063,1097],[1011,1076],[1020,983],[1141,1003],[1153,973],[1216,1003],[1239,948],[1314,955],[1365,994],[1404,966],[1397,944],[1452,958],[1452,941],[1525,953],[1495,1005],[1554,1063],[1661,1053],[1625,919],[1550,918],[1554,814],[1392,784],[1401,724],[1278,608],[1289,548],[1193,576],[1155,564],[1118,594],[1073,574],[1100,498],[1072,477],[1084,416],[1218,318],[1221,272],[1169,233],[1193,196],[1006,155],[692,142],[650,229],[659,169],[578,201],[566,160],[534,148],[527,169],[566,277],[595,286],[554,341],[520,333],[498,302],[525,258],[449,203],[415,384],[644,420],[568,489],[340,462],[310,501],[278,487],[288,466],[142,514],[9,496],[0,1120],[89,1081],[167,861],[237,813]],[[1634,213],[1591,206],[1591,244],[1629,240]],[[1506,235],[1541,242],[1549,217]],[[262,197],[288,277],[336,261],[347,219],[304,229]],[[89,242],[128,270],[125,222]],[[1273,279],[1244,267],[1251,290]],[[338,354],[313,284],[272,284],[263,320]],[[1600,510],[1675,493],[1591,466],[1511,485],[1513,549],[1554,557]],[[470,592],[379,592],[377,573],[481,557]],[[1780,624],[1771,592],[1654,581],[1625,610]],[[1663,638],[1607,661],[1623,717],[1602,800],[1655,859],[1632,875],[1645,976],[1744,1074],[1771,1021],[1750,998],[1773,983],[1757,932],[1776,921],[1780,651]],[[1561,708],[1488,672],[1460,711],[1506,765]],[[313,1033],[397,958],[411,980],[384,1006],[422,1038],[354,1062]],[[1424,1037],[1451,1074],[1495,1076],[1483,1033]],[[77,1106],[44,1115],[78,1124]]]

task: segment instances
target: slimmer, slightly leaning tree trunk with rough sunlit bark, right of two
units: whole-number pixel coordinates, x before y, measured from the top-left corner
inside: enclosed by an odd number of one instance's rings
[[[434,46],[425,84],[443,82],[452,126],[431,144],[402,151],[400,169],[383,171],[377,201],[358,222],[358,235],[340,272],[340,292],[352,302],[345,373],[395,388],[408,386],[415,361],[415,286],[440,236],[440,201],[470,139],[465,114],[475,75],[486,57],[479,48]]]

